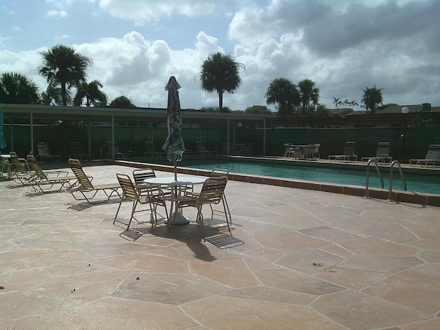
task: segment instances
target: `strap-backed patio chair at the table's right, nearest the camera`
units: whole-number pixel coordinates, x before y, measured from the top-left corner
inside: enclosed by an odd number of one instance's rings
[[[206,204],[210,205],[210,204],[223,203],[222,212],[223,214],[225,214],[226,224],[228,226],[228,230],[230,234],[232,235],[230,229],[230,221],[228,217],[228,210],[225,203],[225,199],[223,198],[223,194],[227,183],[228,183],[228,177],[225,176],[209,177],[204,181],[203,187],[201,188],[199,194],[195,194],[194,192],[188,192],[176,200],[175,208],[177,210],[179,208],[188,208],[188,207],[197,208],[196,222],[199,223],[203,241],[206,241],[206,239],[205,239],[205,232],[203,231],[203,214],[201,213],[201,209],[203,205]],[[174,226],[176,214],[177,212],[175,212],[173,217],[173,226]]]

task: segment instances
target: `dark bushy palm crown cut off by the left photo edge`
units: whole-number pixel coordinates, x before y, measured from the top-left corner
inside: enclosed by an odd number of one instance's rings
[[[0,76],[0,103],[38,104],[38,87],[23,74],[5,72]]]

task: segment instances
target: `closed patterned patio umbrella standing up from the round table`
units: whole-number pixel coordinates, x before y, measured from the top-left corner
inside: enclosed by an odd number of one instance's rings
[[[168,91],[168,107],[166,123],[168,124],[168,137],[162,149],[166,151],[166,157],[174,162],[174,179],[177,181],[177,162],[180,162],[185,151],[184,140],[181,138],[181,109],[179,100],[180,85],[174,76],[171,76],[166,84]]]

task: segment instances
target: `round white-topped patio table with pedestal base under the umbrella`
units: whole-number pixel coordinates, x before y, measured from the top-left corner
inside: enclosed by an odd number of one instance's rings
[[[179,199],[179,196],[181,195],[181,192],[186,189],[188,186],[195,186],[197,184],[203,184],[203,182],[206,181],[206,177],[178,177],[177,181],[174,179],[174,177],[150,177],[148,179],[144,179],[144,183],[146,184],[157,184],[157,186],[163,188],[168,187],[172,188],[173,193],[171,194],[171,206],[170,206],[170,212],[169,219],[168,220],[168,226],[170,226],[171,220],[173,219],[173,207],[177,205],[177,201]],[[185,225],[187,223],[190,223],[188,219],[184,217],[183,214],[179,210],[175,210],[177,212],[176,219],[175,219],[175,225]]]

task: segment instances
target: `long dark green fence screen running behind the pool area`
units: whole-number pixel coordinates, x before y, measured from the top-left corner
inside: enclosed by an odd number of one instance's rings
[[[89,151],[89,136],[91,153],[100,157],[101,146],[111,140],[111,126],[34,126],[34,151],[36,143],[45,141],[50,145],[51,153],[69,155],[69,142],[80,142],[83,151]],[[90,133],[89,133],[90,132]],[[359,157],[373,156],[379,142],[390,142],[390,155],[393,159],[425,157],[430,144],[440,144],[440,127],[407,127],[405,144],[401,127],[391,128],[356,128],[356,129],[311,129],[311,128],[270,128],[265,130],[265,155],[275,156],[284,154],[284,144],[314,144],[320,143],[320,155],[338,155],[344,150],[346,141],[356,142],[355,153]],[[10,126],[5,125],[4,135],[7,146],[2,153],[11,151]],[[166,140],[167,131],[164,127],[116,126],[115,140],[120,151],[131,151],[133,157],[143,157],[145,141],[153,142],[157,151]],[[184,127],[182,136],[188,150],[195,151],[196,141],[203,140],[206,148],[221,153],[221,145],[227,141],[226,129],[200,129]],[[230,143],[252,143],[254,155],[263,155],[264,129],[230,129]],[[23,157],[30,152],[30,126],[13,126],[14,151]],[[404,150],[405,148],[405,150]]]

